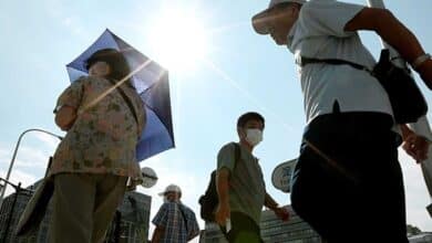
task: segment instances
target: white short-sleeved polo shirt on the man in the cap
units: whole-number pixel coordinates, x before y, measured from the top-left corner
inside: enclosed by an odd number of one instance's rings
[[[335,0],[310,0],[288,34],[288,49],[300,55],[339,59],[373,68],[376,61],[357,32],[346,24],[364,7]],[[377,112],[392,115],[384,88],[367,71],[350,65],[315,63],[299,70],[307,122],[333,112]]]

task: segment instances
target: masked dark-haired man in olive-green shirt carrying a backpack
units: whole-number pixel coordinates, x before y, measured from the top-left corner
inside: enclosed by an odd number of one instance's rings
[[[237,120],[239,142],[225,145],[217,155],[215,220],[230,243],[263,242],[259,222],[263,207],[287,221],[289,212],[266,192],[254,148],[263,140],[264,117],[255,112]]]

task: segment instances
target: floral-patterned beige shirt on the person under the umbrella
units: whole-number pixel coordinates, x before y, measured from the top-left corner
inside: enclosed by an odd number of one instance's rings
[[[59,97],[59,106],[78,110],[113,85],[102,77],[81,77]],[[50,175],[112,173],[141,179],[136,144],[145,125],[143,103],[132,86],[121,85],[137,115],[137,123],[117,89],[79,114],[55,150]]]

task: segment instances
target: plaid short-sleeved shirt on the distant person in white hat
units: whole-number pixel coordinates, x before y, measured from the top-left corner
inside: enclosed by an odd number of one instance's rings
[[[181,202],[165,202],[162,204],[152,222],[154,225],[165,229],[161,239],[162,243],[186,243],[188,235],[193,237],[199,234],[195,213]]]

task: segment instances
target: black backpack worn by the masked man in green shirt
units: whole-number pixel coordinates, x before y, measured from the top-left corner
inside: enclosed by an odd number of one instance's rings
[[[234,152],[235,169],[240,158],[240,146],[237,142],[235,142]],[[215,210],[219,203],[216,191],[216,170],[212,171],[210,182],[207,186],[205,194],[199,198],[198,202],[200,204],[200,218],[206,222],[215,222]]]

